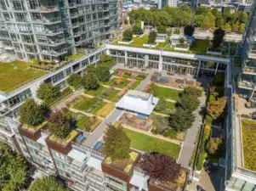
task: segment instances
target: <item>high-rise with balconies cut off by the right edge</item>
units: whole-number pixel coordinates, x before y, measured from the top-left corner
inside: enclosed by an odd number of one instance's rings
[[[248,18],[247,27],[243,34],[242,43],[242,73],[239,78],[239,87],[247,94],[247,98],[256,106],[256,8]]]

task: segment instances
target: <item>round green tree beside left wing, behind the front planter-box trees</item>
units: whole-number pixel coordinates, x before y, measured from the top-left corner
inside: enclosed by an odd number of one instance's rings
[[[52,83],[43,83],[37,89],[37,98],[43,100],[44,104],[51,104],[60,97],[60,87],[53,87]]]

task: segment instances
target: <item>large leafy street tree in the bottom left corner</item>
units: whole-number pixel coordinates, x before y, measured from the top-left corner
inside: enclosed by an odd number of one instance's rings
[[[28,177],[26,160],[15,154],[6,143],[0,143],[0,190],[22,189]]]

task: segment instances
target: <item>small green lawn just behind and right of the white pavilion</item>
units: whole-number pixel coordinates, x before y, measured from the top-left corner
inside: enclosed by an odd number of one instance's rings
[[[169,98],[169,99],[173,99],[176,101],[179,101],[179,93],[181,93],[181,91],[176,90],[176,89],[170,89],[167,87],[155,87],[154,88],[154,96],[156,97],[164,97],[164,98]]]

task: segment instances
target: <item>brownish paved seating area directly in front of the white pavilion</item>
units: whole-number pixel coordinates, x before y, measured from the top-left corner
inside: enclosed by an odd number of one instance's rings
[[[119,122],[123,125],[132,126],[146,132],[150,131],[153,126],[153,121],[151,119],[140,119],[137,115],[129,113],[124,113],[119,119]]]

